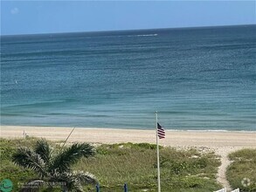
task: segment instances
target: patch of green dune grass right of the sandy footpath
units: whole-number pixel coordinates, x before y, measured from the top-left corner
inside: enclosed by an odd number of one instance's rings
[[[229,154],[232,164],[227,168],[227,179],[233,189],[256,192],[256,149],[242,149]]]

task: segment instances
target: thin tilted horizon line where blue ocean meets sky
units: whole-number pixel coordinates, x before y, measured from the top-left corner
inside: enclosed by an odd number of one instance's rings
[[[54,35],[54,34],[70,34],[70,33],[90,33],[90,32],[114,32],[114,31],[147,31],[147,30],[179,30],[179,29],[194,29],[194,28],[214,28],[214,27],[232,27],[232,26],[248,26],[256,24],[227,24],[227,25],[205,25],[205,26],[185,26],[185,27],[166,27],[166,28],[142,28],[142,29],[128,29],[128,30],[99,30],[99,31],[66,31],[66,32],[42,32],[42,33],[21,33],[0,35],[0,37],[10,36],[28,36],[28,35]]]

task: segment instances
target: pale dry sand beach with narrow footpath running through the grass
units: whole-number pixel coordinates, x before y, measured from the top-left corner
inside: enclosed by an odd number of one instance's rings
[[[65,141],[72,127],[1,127],[1,138],[23,138],[24,131],[33,137],[43,137],[52,141]],[[149,142],[156,143],[156,131],[110,128],[75,128],[69,142],[90,143]],[[241,148],[256,148],[256,132],[228,131],[166,131],[166,138],[160,145],[172,147],[201,147],[214,150],[221,156],[222,165],[218,169],[218,182],[227,189],[225,169],[230,164],[227,155]]]

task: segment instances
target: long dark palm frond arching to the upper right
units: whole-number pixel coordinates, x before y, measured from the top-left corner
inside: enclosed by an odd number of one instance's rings
[[[87,143],[75,143],[71,147],[61,151],[52,161],[51,169],[58,169],[59,173],[70,170],[70,166],[81,157],[89,157],[95,154],[93,146]]]

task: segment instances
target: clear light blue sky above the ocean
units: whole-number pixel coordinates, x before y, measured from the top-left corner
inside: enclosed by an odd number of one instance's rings
[[[1,35],[256,24],[256,1],[1,1]]]

